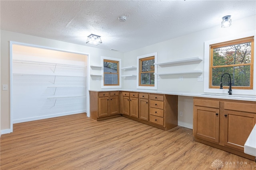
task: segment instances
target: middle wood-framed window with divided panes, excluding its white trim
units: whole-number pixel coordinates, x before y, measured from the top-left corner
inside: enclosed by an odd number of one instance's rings
[[[155,57],[140,59],[139,86],[154,86],[155,84]]]

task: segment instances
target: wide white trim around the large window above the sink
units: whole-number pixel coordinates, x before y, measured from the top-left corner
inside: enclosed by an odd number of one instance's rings
[[[254,36],[254,51],[256,51],[256,34],[255,31],[247,31],[242,33],[232,34],[232,36],[222,36],[218,39],[212,39],[204,41],[204,93],[216,93],[216,94],[227,94],[227,89],[216,89],[209,88],[209,67],[210,67],[210,45],[220,42],[231,41],[234,39],[241,39],[244,37]],[[256,57],[254,57],[254,63],[256,63]],[[256,69],[254,65],[253,74],[256,75]],[[253,81],[255,81],[255,76]],[[232,94],[243,94],[243,95],[256,95],[256,83],[253,84],[253,89],[233,89]]]

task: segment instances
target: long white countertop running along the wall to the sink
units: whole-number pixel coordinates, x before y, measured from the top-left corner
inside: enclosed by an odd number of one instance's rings
[[[145,92],[145,93],[157,93],[157,94],[170,94],[177,96],[191,96],[201,98],[217,98],[217,99],[228,99],[228,100],[244,100],[256,102],[256,95],[240,95],[240,94],[213,94],[213,93],[191,93],[191,92],[171,92],[171,91],[160,91],[160,90],[134,90],[134,89],[102,89],[102,90],[89,90],[94,92],[106,92],[106,91],[129,91],[129,92]]]

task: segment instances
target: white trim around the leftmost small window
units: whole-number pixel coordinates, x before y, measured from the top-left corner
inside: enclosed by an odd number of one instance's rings
[[[113,63],[118,63],[118,69],[117,69],[117,74],[118,74],[118,84],[105,84],[104,82],[104,61],[110,61]],[[122,60],[118,58],[112,58],[112,57],[101,57],[101,74],[102,74],[102,81],[101,81],[101,88],[122,88],[122,81],[121,81],[121,76],[122,76]],[[116,73],[115,73],[116,74]]]

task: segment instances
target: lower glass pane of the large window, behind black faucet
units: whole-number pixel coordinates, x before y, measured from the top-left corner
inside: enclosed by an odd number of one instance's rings
[[[212,68],[212,86],[220,86],[220,79],[224,73],[230,74],[232,86],[250,86],[250,65]],[[222,83],[228,86],[229,84],[225,84],[228,82],[229,76],[226,74],[222,78]]]

